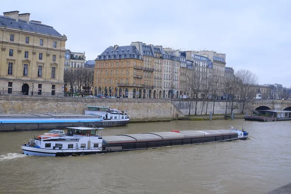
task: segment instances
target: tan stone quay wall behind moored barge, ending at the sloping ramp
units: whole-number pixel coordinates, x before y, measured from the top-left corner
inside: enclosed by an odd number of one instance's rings
[[[84,114],[86,106],[103,106],[128,112],[131,122],[169,121],[183,114],[170,99],[38,97],[0,95],[1,114]]]

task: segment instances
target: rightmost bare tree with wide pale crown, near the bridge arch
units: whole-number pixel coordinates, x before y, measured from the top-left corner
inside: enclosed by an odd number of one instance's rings
[[[241,69],[235,72],[235,76],[241,81],[240,99],[242,101],[242,114],[245,104],[252,101],[256,91],[253,85],[258,83],[258,76],[250,70]]]

